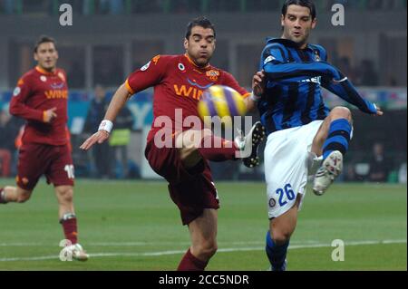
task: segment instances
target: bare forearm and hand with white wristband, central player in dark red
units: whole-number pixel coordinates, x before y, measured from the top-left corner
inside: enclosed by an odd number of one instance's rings
[[[98,131],[85,140],[80,149],[91,149],[95,143],[102,143],[109,139],[109,135],[113,128],[113,120],[116,119],[119,111],[121,111],[121,108],[125,105],[130,96],[131,93],[123,83],[113,95],[112,101],[109,103],[108,111],[106,111],[105,117],[103,118]]]

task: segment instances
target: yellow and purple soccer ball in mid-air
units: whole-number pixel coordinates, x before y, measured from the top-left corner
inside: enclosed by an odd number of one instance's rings
[[[213,85],[203,92],[198,111],[206,124],[211,122],[211,118],[219,117],[217,119],[221,124],[229,126],[231,117],[245,115],[247,106],[236,90],[224,85]]]

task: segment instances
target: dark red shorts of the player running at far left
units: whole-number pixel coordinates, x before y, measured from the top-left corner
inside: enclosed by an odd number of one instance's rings
[[[47,183],[57,186],[73,186],[73,159],[68,145],[51,146],[26,143],[19,150],[17,186],[33,190],[41,176]]]

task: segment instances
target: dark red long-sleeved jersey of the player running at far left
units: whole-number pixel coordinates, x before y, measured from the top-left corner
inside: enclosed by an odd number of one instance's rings
[[[23,143],[43,143],[54,146],[68,142],[68,86],[62,69],[45,72],[35,67],[18,81],[10,101],[10,113],[26,120]],[[44,122],[44,111],[56,108],[57,117]]]

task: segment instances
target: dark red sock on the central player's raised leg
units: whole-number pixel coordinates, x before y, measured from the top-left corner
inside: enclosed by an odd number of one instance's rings
[[[234,160],[238,150],[234,141],[225,140],[215,136],[203,138],[199,152],[205,159],[211,161]]]

